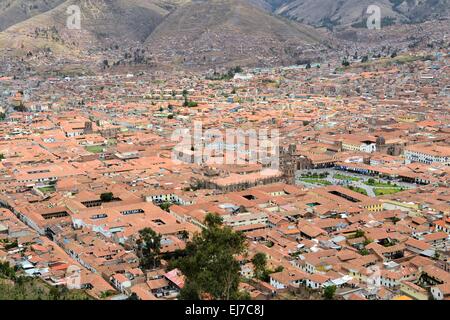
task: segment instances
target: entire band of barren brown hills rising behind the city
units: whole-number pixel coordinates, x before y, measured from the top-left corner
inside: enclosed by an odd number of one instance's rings
[[[286,65],[318,61],[343,40],[375,39],[365,41],[373,46],[383,38],[390,45],[399,32],[415,33],[415,23],[427,30],[430,23],[444,25],[438,20],[448,18],[449,1],[0,0],[0,54],[46,66]],[[382,25],[402,25],[367,33],[372,4],[381,8]],[[67,27],[70,5],[81,9],[80,30]]]

